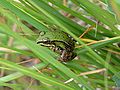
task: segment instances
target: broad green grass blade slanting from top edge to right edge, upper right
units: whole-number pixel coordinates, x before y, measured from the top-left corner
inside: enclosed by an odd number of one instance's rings
[[[92,14],[104,24],[108,25],[116,35],[120,35],[120,31],[115,27],[115,25],[117,24],[115,16],[113,16],[111,13],[101,9],[100,7],[91,3],[88,0],[72,0],[72,2],[85,9],[87,12]]]

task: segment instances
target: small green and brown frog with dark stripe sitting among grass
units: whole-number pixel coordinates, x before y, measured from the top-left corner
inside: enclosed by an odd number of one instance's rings
[[[75,40],[66,32],[60,30],[41,31],[36,42],[59,53],[58,61],[60,62],[67,62],[76,57]]]

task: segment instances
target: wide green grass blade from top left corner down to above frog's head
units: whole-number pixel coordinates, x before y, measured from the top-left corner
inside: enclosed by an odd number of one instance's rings
[[[8,1],[1,0],[0,4],[5,6],[6,8],[10,8],[12,12],[14,12],[17,16],[19,16],[21,19],[29,22],[33,26],[35,26],[38,30],[48,30],[45,26],[40,24],[39,20],[37,20],[35,17],[31,16],[29,13],[25,12],[21,8],[18,8],[17,6],[11,4]]]

